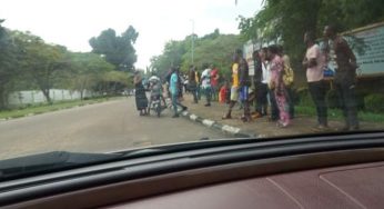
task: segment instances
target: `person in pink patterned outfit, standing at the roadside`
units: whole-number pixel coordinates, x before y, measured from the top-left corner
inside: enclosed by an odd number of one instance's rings
[[[291,122],[289,113],[289,100],[285,84],[283,82],[284,63],[282,57],[279,54],[279,48],[276,46],[270,46],[267,49],[269,57],[271,59],[271,82],[270,87],[273,89],[273,94],[279,108],[277,121],[279,127],[287,127]]]

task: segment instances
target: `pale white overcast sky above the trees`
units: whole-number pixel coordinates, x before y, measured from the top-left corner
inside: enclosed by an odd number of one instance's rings
[[[252,17],[262,0],[2,0],[0,19],[12,30],[30,31],[71,51],[91,50],[89,39],[129,26],[139,32],[135,67],[145,69],[169,40],[199,37],[219,29],[239,33],[236,18]],[[193,27],[194,26],[194,27]]]

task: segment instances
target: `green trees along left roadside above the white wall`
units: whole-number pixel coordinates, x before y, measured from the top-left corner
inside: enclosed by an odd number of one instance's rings
[[[121,39],[128,41],[127,37],[137,37],[137,32],[129,29]],[[0,110],[8,108],[8,94],[12,91],[39,89],[52,103],[49,94],[52,88],[78,90],[82,94],[84,90],[115,93],[132,87],[128,72],[114,71],[105,57],[71,52],[30,32],[0,26]]]

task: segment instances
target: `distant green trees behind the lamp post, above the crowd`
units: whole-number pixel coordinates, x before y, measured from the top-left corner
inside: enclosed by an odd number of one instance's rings
[[[242,47],[242,41],[235,34],[220,34],[219,29],[202,38],[193,36],[194,59],[193,64],[202,69],[204,63],[213,63],[222,74],[229,74],[233,51]],[[192,64],[192,36],[181,41],[169,41],[163,53],[151,58],[151,70],[163,76],[172,66],[180,66],[186,71]]]

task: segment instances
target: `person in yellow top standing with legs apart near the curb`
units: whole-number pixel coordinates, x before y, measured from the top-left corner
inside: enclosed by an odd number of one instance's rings
[[[242,120],[244,122],[251,121],[251,112],[249,104],[249,88],[250,88],[250,76],[247,63],[244,58],[242,58],[242,50],[238,49],[233,56],[232,64],[232,88],[231,88],[231,102],[226,115],[222,119],[231,119],[232,109],[238,101],[240,93],[240,99],[244,104],[244,115]]]

